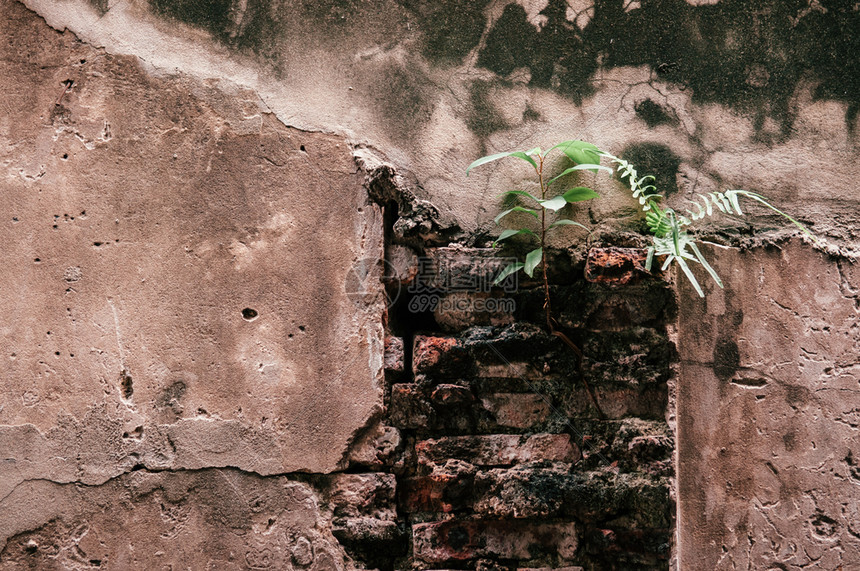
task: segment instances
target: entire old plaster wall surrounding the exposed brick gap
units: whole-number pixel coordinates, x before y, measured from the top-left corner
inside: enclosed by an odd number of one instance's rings
[[[131,517],[116,509],[90,534],[79,525],[107,508],[76,484],[132,498],[126,506],[151,501],[146,525],[170,527],[171,510],[185,506],[177,521],[194,522],[184,529],[198,539],[211,535],[205,545],[240,537],[223,558],[212,556],[216,567],[222,559],[239,568],[337,566],[361,560],[363,542],[414,539],[407,523],[424,516],[404,511],[394,489],[429,477],[421,472],[432,472],[429,464],[401,470],[395,460],[355,459],[375,431],[388,444],[371,448],[394,446],[378,424],[399,394],[383,382],[383,325],[402,329],[394,332],[408,361],[422,329],[453,334],[477,318],[386,313],[376,279],[383,242],[395,265],[415,255],[406,246],[418,254],[449,241],[487,246],[498,192],[533,183],[514,164],[468,179],[465,167],[489,152],[583,138],[653,171],[672,204],[746,188],[827,239],[815,250],[786,241],[790,230],[753,209],[746,221],[708,229],[731,247],[711,254],[725,290],[710,286],[702,301],[678,282],[677,322],[665,316],[660,326],[680,361],[681,568],[856,561],[848,499],[860,455],[850,442],[860,406],[854,3],[24,4],[2,5],[0,58],[8,86],[0,94],[0,501],[2,537],[20,540],[9,553],[56,552],[51,560],[67,566],[126,561],[75,551],[89,553],[87,536],[115,533]],[[637,204],[623,186],[582,180],[602,194],[571,212],[595,230],[593,242],[641,246]],[[578,247],[562,253],[573,261],[560,272],[580,271],[581,243],[576,230],[559,235],[558,248]],[[523,286],[518,320],[539,314],[531,289]],[[565,322],[574,331],[599,329],[606,314],[577,321],[582,303],[603,302],[574,288],[556,308],[574,316]],[[400,384],[414,384],[408,377]],[[460,384],[481,402],[508,402]],[[623,391],[613,394],[625,402]],[[665,402],[673,420],[671,399],[645,402]],[[807,437],[812,427],[826,436]],[[450,436],[443,428],[424,436]],[[533,429],[546,427],[520,432]],[[344,469],[387,472],[362,476],[372,484],[324,475]],[[218,511],[225,483],[266,517],[241,506]],[[338,486],[352,491],[331,491]],[[305,511],[277,498],[255,511],[255,498],[284,487],[304,498],[295,501]],[[340,517],[383,523],[352,531],[336,523],[330,500],[343,503],[356,488],[378,501],[346,502]],[[489,504],[472,500],[463,509],[480,520]],[[561,519],[573,514],[559,509]],[[772,517],[779,510],[794,515]],[[57,514],[75,515],[44,528],[44,538],[27,535]],[[609,529],[599,518],[571,518],[577,529]],[[243,523],[222,538],[219,522],[233,519]],[[376,531],[362,535],[362,526]],[[579,544],[595,545],[589,533],[577,532]],[[56,537],[64,539],[48,539]],[[193,566],[194,549],[161,552]],[[237,555],[243,550],[251,555]],[[422,565],[453,561],[433,557]]]

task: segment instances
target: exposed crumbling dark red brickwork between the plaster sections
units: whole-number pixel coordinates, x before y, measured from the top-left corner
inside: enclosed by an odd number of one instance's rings
[[[452,254],[459,262],[447,272],[494,267],[485,250],[428,255]],[[537,284],[510,294],[517,310],[508,319],[437,311],[437,329],[416,332],[413,316],[401,315],[405,339],[386,343],[385,416],[350,464],[379,473],[328,477],[335,536],[356,559],[383,569],[669,568],[674,298],[644,276],[639,257],[595,251],[587,272],[572,261],[572,273],[554,279],[554,306],[582,348],[581,367],[537,324]],[[591,281],[578,277],[586,275]],[[434,292],[486,296],[438,284]],[[494,321],[503,324],[470,326]],[[346,484],[354,492],[338,491]]]

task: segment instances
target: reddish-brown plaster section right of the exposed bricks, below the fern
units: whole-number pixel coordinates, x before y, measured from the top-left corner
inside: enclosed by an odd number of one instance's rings
[[[856,263],[798,241],[714,255],[726,289],[698,302],[681,288],[681,569],[851,569]]]

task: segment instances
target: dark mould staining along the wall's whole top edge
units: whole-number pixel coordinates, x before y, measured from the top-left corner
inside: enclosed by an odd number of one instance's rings
[[[104,0],[90,1],[107,11]],[[282,49],[287,31],[296,26],[319,30],[315,41],[332,42],[335,50],[373,21],[371,10],[379,17],[396,15],[419,30],[403,39],[418,38],[429,62],[447,66],[462,64],[489,25],[487,0],[387,0],[372,7],[355,0],[150,2],[154,12],[203,28],[276,71],[289,56]],[[693,6],[684,0],[595,0],[579,12],[573,4],[549,0],[537,25],[523,6],[508,4],[487,32],[477,65],[501,78],[528,69],[530,85],[576,102],[593,91],[591,77],[598,69],[648,65],[659,79],[689,88],[694,100],[755,113],[759,126],[772,117],[783,134],[794,119],[795,88],[811,80],[817,98],[849,104],[845,120],[854,129],[860,112],[860,9],[853,1],[721,0]]]

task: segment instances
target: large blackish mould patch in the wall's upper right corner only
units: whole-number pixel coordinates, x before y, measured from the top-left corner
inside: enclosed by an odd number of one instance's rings
[[[819,81],[816,97],[849,103],[851,127],[860,114],[860,9],[840,0],[817,6],[650,0],[625,12],[623,0],[596,0],[594,17],[579,29],[565,18],[566,2],[550,0],[538,30],[512,4],[490,30],[478,65],[502,76],[528,67],[533,85],[576,100],[589,92],[598,62],[648,65],[657,77],[691,89],[695,101],[755,113],[759,127],[773,117],[783,134],[793,121],[791,96],[811,77]]]

